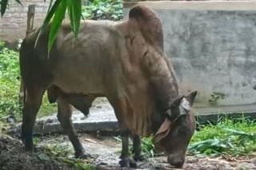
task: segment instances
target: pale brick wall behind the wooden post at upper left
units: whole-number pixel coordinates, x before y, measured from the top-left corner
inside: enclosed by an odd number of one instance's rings
[[[34,27],[42,24],[49,1],[23,0],[21,2],[23,6],[15,1],[10,1],[6,14],[0,18],[0,40],[13,42],[17,38],[25,37],[27,10],[30,5],[35,5]]]

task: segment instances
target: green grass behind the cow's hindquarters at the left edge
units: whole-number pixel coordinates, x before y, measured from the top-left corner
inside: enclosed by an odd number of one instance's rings
[[[5,121],[1,118],[7,116],[20,120],[22,109],[18,105],[20,85],[18,52],[5,47],[0,50],[0,84],[0,120]],[[55,106],[48,102],[45,95],[38,115],[44,116],[56,112]]]

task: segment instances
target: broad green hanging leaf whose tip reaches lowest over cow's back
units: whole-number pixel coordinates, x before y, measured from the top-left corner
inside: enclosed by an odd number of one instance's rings
[[[62,25],[62,20],[65,18],[66,7],[67,7],[66,0],[62,0],[62,2],[60,2],[54,14],[54,19],[50,26],[50,35],[48,40],[48,53],[50,53],[50,49],[54,44],[54,40],[55,38],[57,38],[58,30]]]

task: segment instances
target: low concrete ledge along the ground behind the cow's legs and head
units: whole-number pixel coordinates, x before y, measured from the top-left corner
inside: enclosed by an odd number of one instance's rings
[[[222,118],[242,118],[250,120],[256,119],[256,111],[243,113],[198,113],[196,119],[199,124],[216,124]],[[113,109],[92,109],[90,115],[85,117],[82,113],[76,111],[72,116],[74,128],[77,132],[118,132],[118,121],[114,115]],[[10,133],[19,134],[21,124],[10,129]],[[56,114],[50,117],[42,117],[36,121],[34,134],[62,133],[63,129],[57,120]]]

